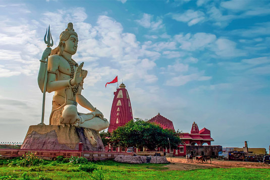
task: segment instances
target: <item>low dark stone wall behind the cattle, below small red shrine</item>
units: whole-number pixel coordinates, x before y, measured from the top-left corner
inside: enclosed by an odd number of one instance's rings
[[[220,151],[222,151],[222,146],[186,146],[186,154],[193,152],[194,156],[219,157]]]

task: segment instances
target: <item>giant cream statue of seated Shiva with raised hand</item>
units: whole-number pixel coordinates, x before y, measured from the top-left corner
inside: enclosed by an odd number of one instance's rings
[[[83,63],[78,65],[72,59],[77,47],[78,35],[73,29],[73,24],[69,23],[68,28],[60,34],[58,47],[53,50],[47,47],[42,54],[38,73],[38,86],[43,92],[46,69],[45,59],[48,58],[45,89],[49,93],[55,91],[52,98],[49,125],[72,125],[101,131],[109,127],[109,122],[81,94],[87,71],[82,69]],[[78,103],[91,112],[78,112]]]

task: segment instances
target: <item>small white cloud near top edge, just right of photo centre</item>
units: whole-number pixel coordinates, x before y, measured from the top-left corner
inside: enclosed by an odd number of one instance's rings
[[[161,19],[156,18],[156,21],[152,21],[152,19],[153,15],[144,13],[142,19],[135,20],[135,22],[144,28],[150,28],[151,30],[157,30],[164,27],[163,21]]]

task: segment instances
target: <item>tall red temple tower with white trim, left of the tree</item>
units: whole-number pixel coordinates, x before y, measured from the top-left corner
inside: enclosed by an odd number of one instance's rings
[[[108,131],[112,133],[120,126],[124,126],[133,119],[132,108],[125,84],[121,84],[114,92],[114,100],[111,109],[110,126]]]

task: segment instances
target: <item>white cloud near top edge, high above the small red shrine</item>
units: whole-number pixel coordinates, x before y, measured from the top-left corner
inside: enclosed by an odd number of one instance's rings
[[[188,23],[188,26],[193,26],[197,23],[201,23],[205,19],[205,15],[201,11],[193,11],[193,10],[187,10],[183,14],[173,14],[169,13],[174,20]]]

